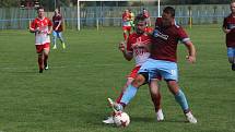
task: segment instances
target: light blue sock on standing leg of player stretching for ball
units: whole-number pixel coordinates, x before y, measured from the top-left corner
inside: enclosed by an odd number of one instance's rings
[[[180,105],[180,107],[184,111],[187,111],[189,109],[188,101],[181,89],[179,89],[178,93],[175,95],[175,99]]]

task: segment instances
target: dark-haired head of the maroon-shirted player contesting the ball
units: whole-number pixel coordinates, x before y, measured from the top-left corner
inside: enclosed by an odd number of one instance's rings
[[[162,20],[164,26],[171,26],[175,21],[175,9],[166,7],[162,13]]]

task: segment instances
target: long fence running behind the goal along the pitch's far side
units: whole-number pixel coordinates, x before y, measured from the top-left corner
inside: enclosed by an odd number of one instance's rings
[[[223,17],[230,14],[228,4],[201,4],[201,5],[173,5],[176,9],[176,22],[181,25],[189,24],[190,17],[192,24],[212,24],[222,23]],[[157,7],[131,7],[134,14],[145,8],[151,14],[151,21],[154,23],[157,17]],[[161,7],[162,9],[164,5]],[[121,14],[127,7],[86,7],[81,8],[81,26],[121,26]],[[77,28],[78,10],[77,7],[61,8],[67,28]],[[51,17],[52,12],[46,15]],[[19,8],[0,9],[0,29],[8,28],[27,28],[28,23],[36,16],[36,11]]]

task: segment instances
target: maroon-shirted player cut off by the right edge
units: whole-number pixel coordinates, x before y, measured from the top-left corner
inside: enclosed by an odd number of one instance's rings
[[[235,71],[235,0],[231,2],[231,14],[224,19],[223,32],[226,34],[228,62]]]

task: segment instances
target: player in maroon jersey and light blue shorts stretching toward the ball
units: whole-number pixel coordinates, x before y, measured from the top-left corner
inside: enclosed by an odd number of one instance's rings
[[[122,110],[134,97],[138,87],[145,81],[153,79],[155,75],[161,75],[165,80],[172,94],[175,96],[176,101],[180,105],[187,121],[197,123],[197,119],[192,116],[192,112],[189,109],[186,96],[178,86],[178,70],[176,63],[178,40],[181,40],[181,43],[185,44],[188,50],[188,56],[186,58],[190,63],[196,62],[196,49],[183,27],[175,25],[174,17],[175,9],[166,7],[163,10],[162,19],[156,20],[157,22],[153,32],[150,58],[142,64],[138,76],[125,91],[120,103],[111,103],[113,108],[116,110]]]

